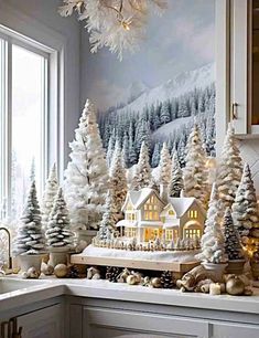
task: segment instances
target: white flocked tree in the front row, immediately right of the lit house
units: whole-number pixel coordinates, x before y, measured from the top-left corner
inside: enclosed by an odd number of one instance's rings
[[[220,225],[220,203],[216,184],[213,186],[201,245],[202,252],[197,255],[198,260],[216,264],[226,262],[225,239]]]

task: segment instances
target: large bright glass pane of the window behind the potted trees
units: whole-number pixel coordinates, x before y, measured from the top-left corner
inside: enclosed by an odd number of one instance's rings
[[[41,194],[44,146],[45,59],[12,46],[12,188],[11,214],[20,215],[35,168]]]

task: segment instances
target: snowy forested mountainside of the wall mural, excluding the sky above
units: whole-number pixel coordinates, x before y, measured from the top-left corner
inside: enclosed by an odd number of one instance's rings
[[[214,64],[184,72],[166,83],[149,88],[138,86],[126,103],[99,112],[99,127],[108,156],[115,142],[122,147],[127,167],[138,161],[142,141],[150,148],[157,167],[164,141],[177,150],[182,167],[187,135],[194,122],[202,129],[208,156],[215,155],[215,70]],[[133,86],[132,86],[133,88]]]

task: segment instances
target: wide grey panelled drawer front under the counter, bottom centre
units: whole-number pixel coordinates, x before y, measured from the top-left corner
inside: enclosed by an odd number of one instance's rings
[[[177,316],[85,307],[83,338],[206,338],[208,323]]]

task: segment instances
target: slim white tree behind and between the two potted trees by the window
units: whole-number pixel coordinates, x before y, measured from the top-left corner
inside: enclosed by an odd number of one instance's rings
[[[58,190],[58,180],[57,180],[57,172],[56,172],[56,165],[54,163],[48,178],[46,180],[45,190],[43,192],[42,198],[42,226],[46,229],[50,214],[53,209],[54,200]]]

